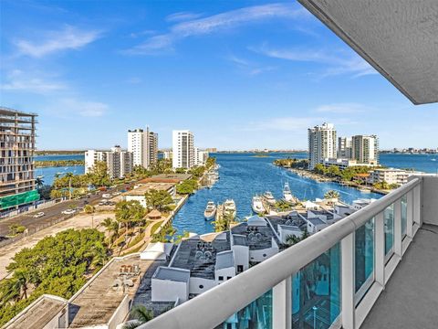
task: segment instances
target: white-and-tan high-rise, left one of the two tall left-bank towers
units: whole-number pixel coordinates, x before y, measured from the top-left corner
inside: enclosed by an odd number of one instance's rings
[[[128,152],[132,153],[133,164],[149,168],[158,161],[158,134],[142,129],[128,131]]]

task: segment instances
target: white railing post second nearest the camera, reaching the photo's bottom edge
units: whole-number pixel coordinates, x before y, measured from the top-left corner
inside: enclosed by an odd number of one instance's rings
[[[355,328],[354,302],[354,232],[340,242],[341,255],[341,317],[343,329]]]

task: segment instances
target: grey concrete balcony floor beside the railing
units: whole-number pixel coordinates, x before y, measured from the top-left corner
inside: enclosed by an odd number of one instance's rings
[[[417,232],[360,329],[438,327],[438,227]]]

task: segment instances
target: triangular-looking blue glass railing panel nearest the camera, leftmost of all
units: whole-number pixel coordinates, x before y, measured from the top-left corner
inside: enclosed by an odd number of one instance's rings
[[[272,329],[272,290],[234,313],[215,329]]]

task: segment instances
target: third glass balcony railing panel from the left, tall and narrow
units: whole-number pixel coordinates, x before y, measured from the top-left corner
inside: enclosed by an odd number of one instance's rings
[[[374,281],[374,218],[362,225],[355,232],[355,292],[356,300],[368,291]]]

